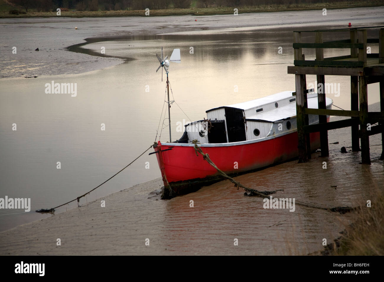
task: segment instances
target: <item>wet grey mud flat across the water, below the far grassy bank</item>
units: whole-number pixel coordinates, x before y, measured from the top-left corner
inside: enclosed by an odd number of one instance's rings
[[[303,29],[316,27],[379,26],[384,6],[328,10],[245,13],[238,16],[151,16],[110,18],[2,18],[0,19],[0,77],[34,77],[76,74],[103,69],[129,60],[129,47],[121,58],[67,47],[113,38],[159,39],[163,34],[194,35],[255,29]],[[78,29],[75,30],[75,27]],[[12,32],[10,32],[12,30]],[[199,33],[203,32],[203,33]],[[30,36],[33,34],[33,36]],[[136,37],[135,37],[136,36]],[[291,36],[291,35],[290,35]],[[87,41],[84,41],[88,38]],[[12,45],[11,45],[12,42]],[[12,47],[17,47],[17,56]],[[40,51],[34,51],[39,48]],[[91,56],[98,55],[98,56]],[[33,78],[31,78],[33,79]]]

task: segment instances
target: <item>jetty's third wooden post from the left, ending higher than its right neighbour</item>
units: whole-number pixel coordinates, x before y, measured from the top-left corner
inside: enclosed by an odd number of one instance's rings
[[[351,43],[358,43],[357,30],[349,31]],[[358,48],[351,48],[351,58],[358,58]],[[359,110],[359,77],[351,76],[351,110]],[[353,117],[352,117],[353,118]],[[360,151],[359,145],[359,125],[351,126],[352,151]]]

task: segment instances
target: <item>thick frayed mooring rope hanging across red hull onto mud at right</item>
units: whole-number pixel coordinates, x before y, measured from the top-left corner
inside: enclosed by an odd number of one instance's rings
[[[270,194],[273,194],[274,192],[270,192],[270,191],[258,191],[258,190],[255,190],[255,189],[252,189],[252,188],[248,188],[248,187],[245,187],[244,185],[242,185],[240,182],[234,180],[232,177],[228,176],[225,172],[223,172],[222,170],[220,170],[214,162],[212,162],[212,160],[210,159],[209,155],[208,154],[205,154],[203,152],[203,150],[197,146],[197,140],[193,140],[192,143],[195,144],[195,152],[196,152],[196,155],[197,153],[200,153],[204,160],[206,160],[212,167],[214,167],[218,173],[220,173],[220,175],[222,175],[223,177],[227,178],[228,180],[230,180],[233,184],[235,184],[235,187],[237,187],[237,190],[239,189],[239,187],[243,188],[246,192],[249,192],[251,193],[251,196],[255,195],[255,196],[259,196],[259,197],[262,197],[262,198],[268,198],[268,195]],[[199,155],[197,155],[199,156]],[[276,190],[276,191],[281,191],[281,190]],[[323,209],[323,210],[326,210],[326,211],[332,211],[332,212],[338,212],[338,213],[341,213],[341,214],[344,214],[344,213],[348,213],[350,211],[353,211],[353,210],[356,210],[356,208],[351,208],[351,207],[341,207],[341,206],[338,206],[338,207],[334,207],[334,208],[324,208],[324,207],[321,207],[321,206],[315,206],[313,204],[309,204],[309,203],[304,203],[304,202],[299,202],[299,201],[295,201],[296,204],[300,205],[300,206],[306,206],[308,208],[314,208],[314,209]]]

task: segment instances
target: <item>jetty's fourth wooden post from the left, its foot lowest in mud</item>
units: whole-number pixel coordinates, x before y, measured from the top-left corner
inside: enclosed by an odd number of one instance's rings
[[[362,43],[362,48],[359,48],[359,61],[367,64],[367,30],[359,30],[359,43]],[[361,163],[371,164],[369,155],[369,135],[367,132],[368,124],[368,93],[367,81],[365,76],[359,76],[359,101],[360,101],[360,132],[361,132]]]

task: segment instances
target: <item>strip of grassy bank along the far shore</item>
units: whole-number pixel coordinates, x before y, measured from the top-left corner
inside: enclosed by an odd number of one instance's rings
[[[329,2],[316,4],[295,4],[295,5],[263,5],[255,7],[239,7],[238,13],[255,13],[255,12],[281,12],[281,11],[301,11],[301,10],[322,10],[356,8],[356,7],[376,7],[382,6],[382,0],[372,0],[369,2],[351,1],[351,2]],[[10,14],[10,10],[18,9],[23,11],[22,7],[12,7],[2,0],[0,1],[0,18],[29,18],[29,17],[50,17],[57,16],[56,12],[36,12],[28,10],[28,13]],[[172,16],[172,15],[225,15],[233,14],[233,7],[210,7],[210,8],[187,8],[187,9],[167,9],[167,10],[150,10],[149,16]],[[82,17],[106,17],[106,16],[145,16],[144,10],[120,10],[120,11],[61,11],[61,16],[73,18]]]

